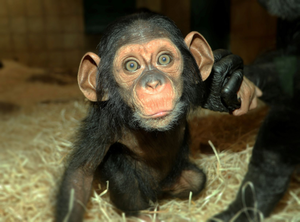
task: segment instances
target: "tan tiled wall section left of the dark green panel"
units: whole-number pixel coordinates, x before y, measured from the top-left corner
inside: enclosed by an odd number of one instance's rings
[[[0,0],[0,58],[29,66],[78,66],[82,0]]]

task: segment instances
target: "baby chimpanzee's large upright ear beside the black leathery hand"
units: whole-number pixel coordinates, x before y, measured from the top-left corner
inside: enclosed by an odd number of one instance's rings
[[[214,63],[212,49],[205,38],[198,32],[191,32],[187,34],[184,41],[196,59],[202,80],[206,80],[212,71],[212,65]]]

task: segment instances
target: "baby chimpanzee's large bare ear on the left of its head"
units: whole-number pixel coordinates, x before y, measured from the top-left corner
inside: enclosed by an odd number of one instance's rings
[[[80,62],[78,70],[78,84],[81,92],[90,101],[97,101],[96,96],[96,72],[99,66],[100,58],[98,55],[92,52],[86,53]],[[108,99],[108,96],[104,96],[102,101]]]

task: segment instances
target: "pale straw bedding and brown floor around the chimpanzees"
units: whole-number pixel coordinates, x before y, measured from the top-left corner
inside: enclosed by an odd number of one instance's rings
[[[4,66],[0,70],[0,221],[53,221],[64,160],[87,102],[74,76],[65,71],[49,73],[11,61],[4,61]],[[191,157],[207,174],[206,188],[186,200],[160,200],[157,212],[145,213],[164,221],[205,221],[223,210],[246,173],[267,111],[261,105],[241,117],[206,110],[190,116]],[[108,192],[95,184],[85,221],[125,220]],[[265,221],[300,221],[299,173],[294,173],[285,197]]]

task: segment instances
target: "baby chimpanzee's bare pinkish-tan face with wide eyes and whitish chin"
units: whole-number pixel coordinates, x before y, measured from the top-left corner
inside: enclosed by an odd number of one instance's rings
[[[120,47],[113,67],[120,93],[143,127],[166,129],[181,114],[183,60],[168,38]]]

